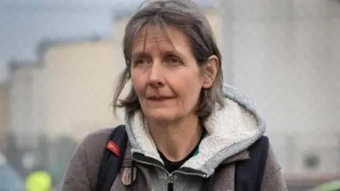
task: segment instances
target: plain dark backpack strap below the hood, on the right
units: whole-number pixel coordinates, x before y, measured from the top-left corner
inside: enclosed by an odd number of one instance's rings
[[[236,163],[235,188],[237,191],[260,191],[268,157],[268,137],[261,137],[249,147],[249,159]]]

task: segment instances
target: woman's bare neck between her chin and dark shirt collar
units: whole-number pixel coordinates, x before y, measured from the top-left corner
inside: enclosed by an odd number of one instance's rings
[[[200,141],[203,127],[196,116],[186,117],[179,122],[147,122],[157,149],[169,161],[181,161],[193,151]]]

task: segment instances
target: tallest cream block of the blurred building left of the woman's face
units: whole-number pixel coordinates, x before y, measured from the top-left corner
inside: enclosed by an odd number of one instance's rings
[[[115,79],[125,62],[113,40],[51,42],[42,55],[42,95],[48,137],[83,139],[121,122],[111,109]]]

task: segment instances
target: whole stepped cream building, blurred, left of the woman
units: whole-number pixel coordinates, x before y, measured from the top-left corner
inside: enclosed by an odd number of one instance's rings
[[[120,52],[113,40],[49,40],[38,62],[10,63],[8,158],[22,175],[40,164],[61,181],[77,142],[121,123],[111,109]]]

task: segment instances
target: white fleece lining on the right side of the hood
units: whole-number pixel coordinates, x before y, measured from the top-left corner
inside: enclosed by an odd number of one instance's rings
[[[183,166],[201,170],[210,158],[220,151],[254,137],[258,134],[257,120],[232,100],[222,110],[216,111],[204,122],[208,136],[200,142],[198,155],[189,159]],[[221,161],[225,158],[221,158]]]

